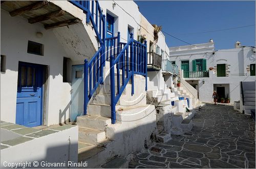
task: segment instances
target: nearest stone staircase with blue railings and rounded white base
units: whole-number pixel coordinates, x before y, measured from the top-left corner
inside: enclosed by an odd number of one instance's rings
[[[101,165],[104,163],[106,164],[104,167],[106,167],[108,162],[110,164],[112,163],[111,160],[116,160],[114,157],[119,155],[114,151],[116,128],[125,123],[123,121],[129,121],[127,119],[134,118],[133,115],[126,117],[122,115],[135,114],[136,116],[138,112],[145,114],[143,111],[148,109],[146,105],[145,78],[140,75],[134,75],[134,82],[138,85],[137,88],[135,87],[135,94],[131,95],[132,86],[127,84],[116,105],[116,124],[111,124],[109,74],[110,64],[106,62],[103,70],[104,84],[99,85],[91,98],[87,106],[87,115],[77,117],[77,125],[79,126],[78,161],[87,161],[88,165],[90,164],[88,166],[90,168],[103,167]],[[117,141],[119,142],[119,139]],[[124,163],[126,164],[126,162],[122,162],[122,166],[124,166]]]

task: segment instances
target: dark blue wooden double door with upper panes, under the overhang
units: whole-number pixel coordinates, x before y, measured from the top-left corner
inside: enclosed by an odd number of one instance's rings
[[[27,127],[42,124],[43,66],[20,62],[16,101],[16,124]]]

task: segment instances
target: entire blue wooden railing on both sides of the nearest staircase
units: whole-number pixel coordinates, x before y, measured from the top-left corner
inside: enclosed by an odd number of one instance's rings
[[[103,83],[103,68],[105,61],[110,60],[111,82],[111,121],[116,122],[115,106],[121,97],[127,83],[131,79],[132,95],[134,94],[134,74],[145,76],[145,90],[147,90],[147,52],[146,41],[144,44],[133,39],[127,43],[120,42],[120,33],[117,37],[106,38],[105,15],[98,1],[70,1],[87,14],[86,22],[91,21],[100,47],[88,62],[84,60],[84,115],[87,114],[87,106],[100,84]],[[117,69],[115,76],[114,67]],[[120,84],[120,71],[122,81]],[[117,80],[117,92],[115,92],[115,77]]]

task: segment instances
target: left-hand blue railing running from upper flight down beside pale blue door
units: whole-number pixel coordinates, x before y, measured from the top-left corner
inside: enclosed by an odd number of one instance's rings
[[[103,83],[103,67],[105,65],[106,19],[98,1],[70,1],[86,13],[86,22],[91,21],[100,47],[88,62],[84,60],[84,103],[83,114],[87,114],[87,105],[94,92]]]

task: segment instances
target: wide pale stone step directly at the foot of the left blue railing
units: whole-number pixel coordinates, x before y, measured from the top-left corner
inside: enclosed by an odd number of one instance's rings
[[[91,128],[100,131],[104,131],[105,127],[111,124],[110,118],[105,118],[101,116],[79,116],[77,117],[76,124],[79,127]]]

